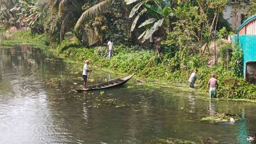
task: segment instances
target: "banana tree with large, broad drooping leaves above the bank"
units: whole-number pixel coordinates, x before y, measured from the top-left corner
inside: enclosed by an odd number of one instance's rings
[[[150,38],[154,32],[159,28],[163,28],[167,33],[169,32],[170,17],[173,16],[170,13],[170,0],[125,0],[126,4],[132,4],[138,2],[131,12],[129,18],[132,18],[136,13],[138,15],[135,17],[132,23],[131,32],[134,31],[138,20],[142,15],[148,14],[150,18],[142,22],[138,28],[144,27],[146,30],[138,37],[138,40],[142,38],[142,42]],[[143,9],[142,9],[143,8]],[[141,10],[140,12],[138,12]]]

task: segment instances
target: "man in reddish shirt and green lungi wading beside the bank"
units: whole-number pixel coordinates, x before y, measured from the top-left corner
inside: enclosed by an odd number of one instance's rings
[[[207,92],[209,86],[210,86],[210,90],[209,90],[210,98],[217,98],[218,80],[215,78],[215,74],[212,74],[212,78],[210,78],[210,80],[208,81],[205,92]]]

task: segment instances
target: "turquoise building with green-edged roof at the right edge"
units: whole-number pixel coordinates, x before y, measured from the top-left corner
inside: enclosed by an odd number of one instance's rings
[[[239,47],[243,50],[244,78],[256,84],[256,14],[237,29]]]

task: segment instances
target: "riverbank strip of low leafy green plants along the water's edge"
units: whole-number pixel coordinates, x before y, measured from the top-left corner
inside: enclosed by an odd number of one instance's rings
[[[20,38],[16,41],[5,41],[5,44],[26,42],[29,44],[49,45],[44,34],[31,34],[30,32],[14,32],[13,36]],[[49,48],[49,47],[48,47]],[[214,72],[219,81],[218,97],[225,99],[244,99],[254,101],[256,99],[256,85],[249,84],[243,78],[237,77],[232,70],[227,70],[222,64],[208,68],[208,60],[199,54],[191,54],[186,63],[179,69],[174,69],[175,63],[164,53],[163,60],[152,50],[140,46],[117,45],[114,47],[114,56],[108,60],[108,52],[105,46],[88,48],[79,44],[76,40],[64,40],[62,44],[50,44],[55,56],[68,58],[72,62],[82,62],[90,59],[91,64],[98,68],[112,70],[115,73],[131,74],[144,79],[154,79],[170,83],[187,83],[190,73],[198,69],[200,92],[204,92],[210,75]],[[174,60],[175,62],[175,60]],[[167,83],[168,82],[168,83]],[[186,89],[186,88],[182,88]]]

